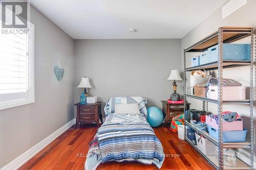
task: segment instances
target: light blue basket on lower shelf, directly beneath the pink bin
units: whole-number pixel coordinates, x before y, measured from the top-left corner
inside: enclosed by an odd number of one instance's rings
[[[219,132],[208,126],[209,135],[215,139],[219,139]],[[242,131],[223,131],[223,142],[245,142],[247,130]]]

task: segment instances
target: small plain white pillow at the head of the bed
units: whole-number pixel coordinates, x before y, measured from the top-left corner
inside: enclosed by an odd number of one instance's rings
[[[139,104],[115,104],[115,114],[140,114]]]

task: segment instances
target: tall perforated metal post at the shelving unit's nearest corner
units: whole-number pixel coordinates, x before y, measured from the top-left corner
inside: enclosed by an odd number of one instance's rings
[[[222,45],[223,45],[223,28],[219,28],[218,30],[218,115],[219,115],[219,125],[218,125],[218,133],[219,133],[219,169],[223,169],[223,115],[222,115],[222,75],[223,75],[223,53],[222,53]]]

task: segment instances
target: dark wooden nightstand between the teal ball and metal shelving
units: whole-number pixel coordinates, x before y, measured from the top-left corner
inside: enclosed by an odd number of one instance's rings
[[[165,126],[169,121],[172,121],[173,117],[177,114],[184,113],[184,104],[170,104],[167,101],[162,102],[162,111],[165,114]],[[186,110],[189,109],[190,103],[186,103]]]

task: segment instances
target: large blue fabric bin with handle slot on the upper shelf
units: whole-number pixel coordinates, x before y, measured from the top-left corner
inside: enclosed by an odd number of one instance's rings
[[[224,43],[222,46],[223,60],[251,60],[251,44],[230,44]],[[219,45],[208,48],[208,63],[218,61]]]

